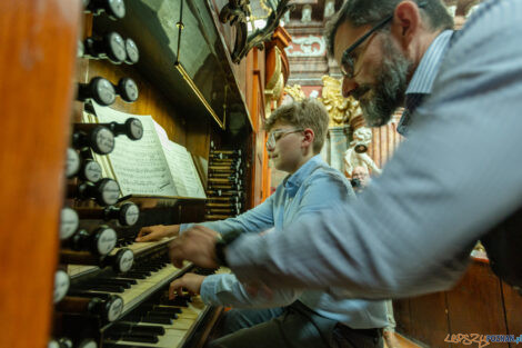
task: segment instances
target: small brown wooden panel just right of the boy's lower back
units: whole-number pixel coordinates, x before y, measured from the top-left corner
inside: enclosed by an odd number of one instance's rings
[[[412,337],[431,347],[449,347],[444,342],[450,331],[444,292],[411,298],[410,314]]]

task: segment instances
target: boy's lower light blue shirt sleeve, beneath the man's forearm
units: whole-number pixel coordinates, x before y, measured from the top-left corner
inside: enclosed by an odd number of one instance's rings
[[[257,296],[247,292],[234,275],[213,275],[201,284],[201,299],[210,306],[234,308],[274,308],[295,301],[301,292],[292,289],[275,289],[273,294],[260,290]]]

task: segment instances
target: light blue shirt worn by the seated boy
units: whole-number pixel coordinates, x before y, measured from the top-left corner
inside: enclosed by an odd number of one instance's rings
[[[318,155],[287,177],[263,203],[235,218],[202,225],[221,233],[231,230],[259,233],[271,228],[282,230],[311,213],[348,205],[353,199],[354,193],[347,178]],[[234,275],[209,276],[201,285],[201,298],[209,305],[273,308],[299,299],[317,314],[355,329],[388,325],[384,301],[335,299],[339,298],[335,291],[280,290],[270,299],[263,294],[251,297]]]

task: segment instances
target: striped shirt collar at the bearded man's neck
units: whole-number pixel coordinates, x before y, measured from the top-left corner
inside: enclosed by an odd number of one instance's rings
[[[452,34],[453,30],[444,30],[433,40],[408,84],[406,95],[431,93],[433,82],[435,81],[442,58],[444,57]]]

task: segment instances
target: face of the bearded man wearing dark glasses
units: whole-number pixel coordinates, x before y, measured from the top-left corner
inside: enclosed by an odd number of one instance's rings
[[[342,23],[334,38],[334,59],[339,66],[343,52],[371,27]],[[370,36],[353,51],[353,78],[343,78],[342,93],[359,100],[369,126],[388,123],[404,100],[408,77],[413,63],[387,31]]]

